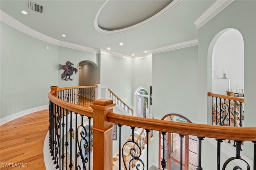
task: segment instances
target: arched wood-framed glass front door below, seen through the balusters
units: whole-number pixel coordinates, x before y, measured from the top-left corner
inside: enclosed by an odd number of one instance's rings
[[[178,114],[165,115],[162,120],[177,121],[184,123],[192,123],[186,117]],[[162,146],[164,140],[164,146]],[[182,140],[182,146],[180,141]],[[161,167],[161,161],[163,159],[166,162],[166,170],[180,170],[180,148],[182,147],[182,166],[183,170],[194,170],[197,168],[197,138],[196,136],[184,135],[180,136],[175,133],[166,133],[166,135],[159,134],[159,167]],[[186,156],[185,156],[186,155]]]

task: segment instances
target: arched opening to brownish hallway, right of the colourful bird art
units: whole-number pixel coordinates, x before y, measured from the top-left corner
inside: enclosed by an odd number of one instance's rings
[[[78,85],[90,86],[100,83],[100,70],[92,61],[78,63]]]

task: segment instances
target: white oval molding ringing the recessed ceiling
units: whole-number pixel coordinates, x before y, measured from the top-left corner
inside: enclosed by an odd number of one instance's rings
[[[162,16],[164,16],[166,13],[168,13],[170,10],[172,10],[173,8],[175,8],[178,4],[180,4],[182,0],[173,0],[168,6],[166,6],[164,9],[162,9],[160,12],[158,12],[157,14],[155,14],[154,16],[138,23],[135,24],[133,26],[127,27],[127,28],[123,28],[123,29],[119,29],[119,30],[103,30],[99,27],[98,25],[98,17],[100,15],[101,10],[104,8],[104,6],[106,5],[106,3],[108,2],[108,0],[102,5],[102,7],[100,8],[100,10],[97,12],[96,17],[94,19],[94,27],[95,29],[103,34],[121,34],[121,33],[125,33],[125,32],[129,32],[132,30],[136,30],[138,28],[141,28],[143,26],[146,26],[147,24],[150,24],[151,22],[154,22],[155,20],[157,20],[158,18],[161,18]]]

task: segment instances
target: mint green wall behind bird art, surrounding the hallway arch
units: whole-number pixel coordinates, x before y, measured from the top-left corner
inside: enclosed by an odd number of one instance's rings
[[[81,61],[91,61],[95,65],[97,65],[97,54],[96,53],[91,53],[91,52],[86,52],[86,51],[80,51],[77,49],[71,49],[71,48],[66,48],[66,47],[59,47],[59,64],[61,65],[66,65],[67,61],[70,61],[73,63],[73,67],[78,69],[78,63]],[[58,65],[56,65],[58,66]],[[57,67],[58,68],[58,67]],[[99,69],[99,68],[96,68]],[[61,80],[61,74],[64,72],[63,69],[58,70],[58,86],[59,87],[72,87],[72,86],[78,86],[78,73],[70,76],[73,81],[64,81]]]

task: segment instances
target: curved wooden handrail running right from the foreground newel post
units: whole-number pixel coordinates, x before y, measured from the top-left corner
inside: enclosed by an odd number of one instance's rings
[[[108,113],[107,121],[160,132],[172,132],[208,138],[256,141],[256,127],[226,127],[196,123],[172,122]]]

